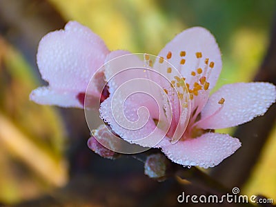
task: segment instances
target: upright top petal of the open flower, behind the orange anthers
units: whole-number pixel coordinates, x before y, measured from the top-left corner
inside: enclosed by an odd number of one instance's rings
[[[181,57],[181,51],[186,54]],[[171,52],[171,58],[168,59],[168,52]],[[201,56],[197,58],[196,52],[201,52]],[[205,28],[195,27],[184,30],[180,34],[170,41],[165,48],[159,52],[159,57],[164,57],[175,68],[181,72],[181,75],[186,78],[186,83],[193,86],[195,81],[198,81],[199,77],[206,76],[206,81],[210,83],[209,88],[213,88],[219,74],[221,72],[221,54],[219,47],[215,41],[213,35]],[[208,64],[205,60],[208,58]],[[185,59],[185,63],[181,64],[181,59]],[[214,67],[210,68],[210,62],[214,63]],[[191,75],[191,72],[197,72],[197,68],[201,68],[203,72],[195,77]],[[206,74],[204,75],[204,71]]]

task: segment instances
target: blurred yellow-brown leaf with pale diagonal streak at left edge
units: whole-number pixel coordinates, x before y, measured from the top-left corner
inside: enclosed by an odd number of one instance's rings
[[[0,150],[3,154],[0,168],[5,169],[0,173],[0,199],[3,201],[33,197],[41,190],[66,182],[64,128],[55,109],[29,101],[29,94],[37,85],[30,66],[0,37]],[[32,188],[23,190],[26,185]]]

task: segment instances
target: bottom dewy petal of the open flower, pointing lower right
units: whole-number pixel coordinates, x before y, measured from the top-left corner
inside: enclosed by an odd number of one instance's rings
[[[209,168],[232,155],[241,143],[239,139],[217,133],[206,133],[195,139],[164,144],[162,151],[169,159],[184,166]]]

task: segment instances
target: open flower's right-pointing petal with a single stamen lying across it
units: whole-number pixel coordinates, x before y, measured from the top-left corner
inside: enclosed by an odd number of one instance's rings
[[[225,99],[224,104],[221,110],[215,113],[221,107],[218,104],[221,98]],[[222,86],[208,99],[201,111],[202,121],[198,126],[216,129],[244,124],[264,115],[275,99],[276,90],[271,83],[234,83]]]

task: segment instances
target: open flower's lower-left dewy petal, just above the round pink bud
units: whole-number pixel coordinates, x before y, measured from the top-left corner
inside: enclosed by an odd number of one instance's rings
[[[120,97],[109,97],[101,103],[100,114],[117,135],[132,144],[155,147],[166,135],[155,126],[147,110],[141,110],[129,99],[124,101]]]

